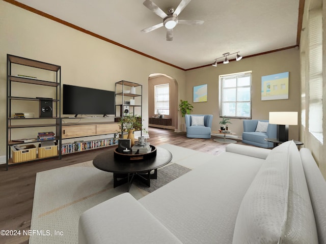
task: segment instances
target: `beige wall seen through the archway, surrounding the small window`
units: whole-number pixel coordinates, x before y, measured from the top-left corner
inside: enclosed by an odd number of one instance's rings
[[[170,93],[170,114],[164,115],[165,118],[172,119],[172,126],[178,128],[178,84],[171,77],[164,75],[156,76],[148,79],[148,115],[149,117],[155,116],[155,98],[154,98],[154,86],[161,84],[169,84]]]

